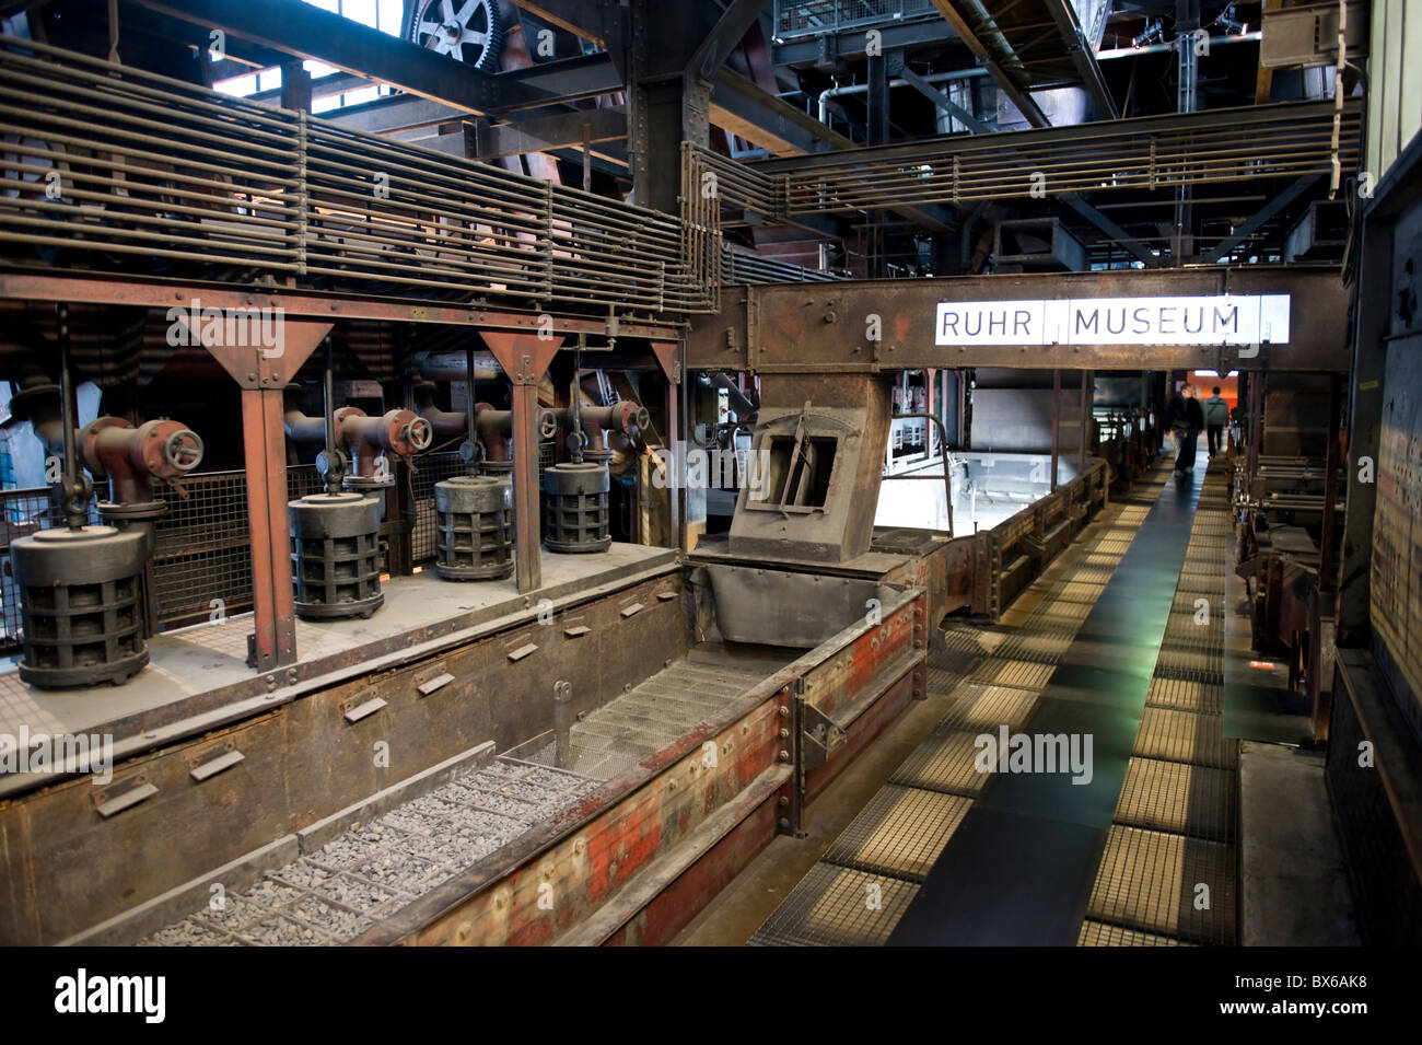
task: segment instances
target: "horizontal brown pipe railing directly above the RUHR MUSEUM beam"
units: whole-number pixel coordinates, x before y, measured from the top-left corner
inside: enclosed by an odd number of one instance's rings
[[[752,164],[685,145],[685,220],[701,237],[693,246],[705,247],[717,240],[722,209],[793,222],[896,206],[1330,175],[1335,162],[1344,171],[1358,162],[1359,114],[1348,101],[1337,149],[1331,102],[956,135]]]

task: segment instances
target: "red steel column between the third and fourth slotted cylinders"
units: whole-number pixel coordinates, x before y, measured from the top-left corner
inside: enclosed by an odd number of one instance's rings
[[[542,519],[538,481],[538,384],[562,337],[485,330],[479,337],[513,385],[513,550],[519,591],[543,586]]]

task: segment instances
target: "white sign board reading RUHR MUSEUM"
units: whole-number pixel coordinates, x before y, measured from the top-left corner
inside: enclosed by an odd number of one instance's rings
[[[1288,344],[1288,294],[939,301],[936,344]]]

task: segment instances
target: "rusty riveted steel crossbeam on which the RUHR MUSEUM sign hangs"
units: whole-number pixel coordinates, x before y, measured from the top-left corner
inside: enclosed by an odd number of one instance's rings
[[[1290,296],[1290,341],[1263,345],[936,344],[940,301]],[[1210,266],[727,287],[687,334],[688,370],[875,374],[894,370],[1217,370],[1347,373],[1347,294],[1334,269]],[[869,317],[882,340],[866,340]]]

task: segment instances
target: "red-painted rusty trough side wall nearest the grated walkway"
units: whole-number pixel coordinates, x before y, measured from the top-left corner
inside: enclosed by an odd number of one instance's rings
[[[921,590],[886,594],[889,616],[884,624],[860,621],[845,628],[755,687],[721,725],[705,725],[680,738],[542,832],[471,867],[357,943],[542,944],[574,931],[614,901],[619,889],[630,887],[638,870],[651,867],[658,856],[693,837],[718,809],[757,781],[765,781],[768,771],[784,763],[799,766],[789,714],[798,690],[803,690],[806,700],[813,691],[820,707],[850,704],[865,694],[879,698],[859,717],[853,744],[857,751],[902,709],[906,694],[913,692],[914,675],[900,677],[887,692],[875,692],[875,681],[882,681],[884,665],[904,655],[912,663],[923,663],[923,651],[914,648],[923,637],[921,630],[916,630],[923,614]],[[707,742],[720,752],[712,766],[705,763]],[[843,765],[848,758],[836,762]],[[830,775],[822,773],[816,783]],[[803,782],[796,789],[803,796]],[[776,799],[782,813],[788,805]],[[684,883],[683,894],[705,894],[724,883],[735,864],[769,840],[759,833],[768,826],[766,820],[765,805],[757,803],[735,837],[734,852],[717,847],[717,860],[697,862],[687,872],[690,877],[674,879]],[[668,887],[671,884],[668,881]],[[657,891],[657,897],[664,896]],[[638,910],[648,916],[630,917],[626,924],[634,926],[631,933],[619,930],[611,938],[658,941],[694,914],[694,909],[674,911],[667,900],[657,899],[640,904]]]

